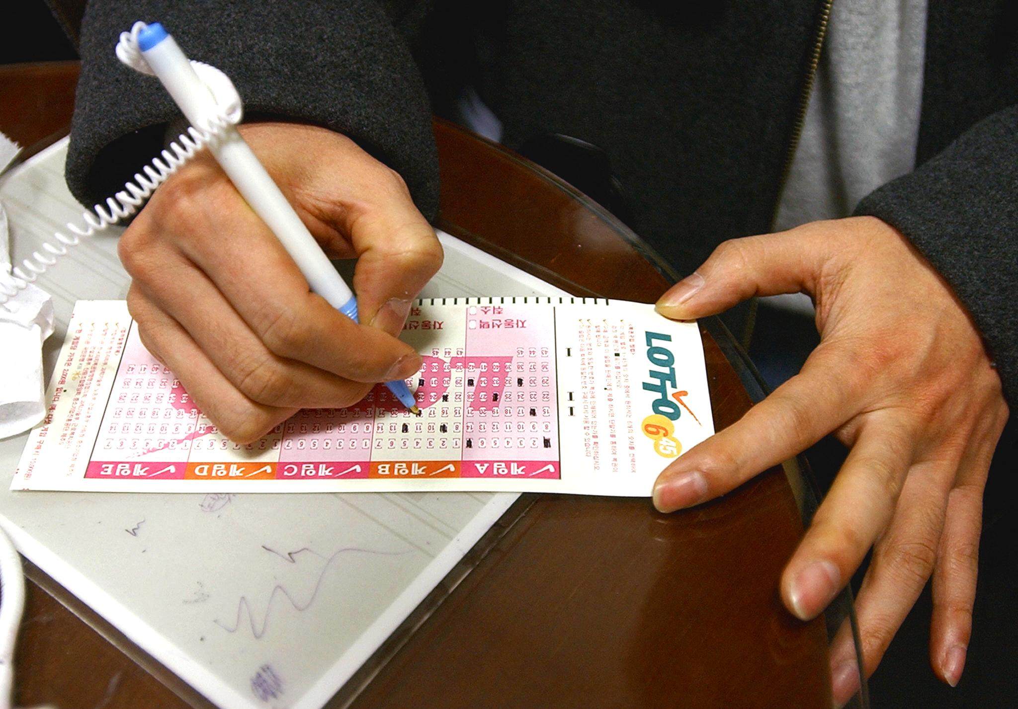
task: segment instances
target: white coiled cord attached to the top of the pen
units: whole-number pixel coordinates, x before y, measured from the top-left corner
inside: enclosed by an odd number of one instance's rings
[[[137,46],[137,35],[146,26],[145,22],[134,22],[129,33],[121,33],[116,51],[117,58],[127,66],[135,71],[152,74],[153,71]],[[133,216],[156,191],[156,187],[183,167],[205,145],[218,138],[226,127],[240,122],[243,113],[240,96],[229,77],[216,67],[202,62],[192,61],[191,66],[211,92],[219,112],[206,118],[204,125],[188,126],[186,131],[177,136],[177,139],[160,154],[160,157],[146,165],[140,173],[134,174],[133,182],[128,181],[122,190],[112,197],[107,197],[105,204],[96,204],[92,211],[82,212],[83,227],[68,222],[66,225],[68,234],[56,232],[52,241],[44,243],[30,258],[25,258],[21,265],[15,267],[9,274],[0,271],[0,305],[46,273],[46,270],[56,263],[60,256],[67,253],[69,247],[80,242],[82,237],[98,234]]]

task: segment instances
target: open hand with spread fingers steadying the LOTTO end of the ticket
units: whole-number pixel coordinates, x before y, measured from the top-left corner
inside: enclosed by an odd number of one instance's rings
[[[932,574],[929,659],[954,686],[971,634],[983,487],[1008,418],[1000,377],[950,287],[871,217],[726,242],[658,310],[692,319],[799,291],[816,306],[819,346],[798,375],[669,465],[655,505],[717,497],[834,431],[851,451],[782,574],[785,605],[815,616],[872,547],[856,599],[868,676]],[[859,682],[850,635],[831,661],[844,703]]]

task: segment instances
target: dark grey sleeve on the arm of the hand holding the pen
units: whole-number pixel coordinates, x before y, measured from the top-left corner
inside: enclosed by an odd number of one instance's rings
[[[374,0],[169,2],[94,0],[81,23],[81,76],[67,184],[93,204],[156,157],[180,112],[153,76],[114,54],[138,18],[160,21],[189,58],[236,85],[247,115],[343,133],[406,181],[429,219],[438,160],[423,83],[403,38]],[[342,179],[342,175],[337,175]]]

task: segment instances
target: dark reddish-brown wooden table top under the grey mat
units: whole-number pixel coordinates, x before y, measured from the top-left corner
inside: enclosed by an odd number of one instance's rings
[[[39,147],[64,134],[76,75],[74,62],[0,66],[0,130]],[[435,132],[439,227],[576,295],[649,302],[674,280],[569,185],[450,123]],[[701,329],[720,429],[761,393],[727,331]],[[327,706],[829,707],[825,618],[800,623],[778,595],[811,505],[795,461],[673,515],[647,499],[522,495]],[[211,706],[29,576],[18,705]],[[839,603],[829,625],[850,598]]]

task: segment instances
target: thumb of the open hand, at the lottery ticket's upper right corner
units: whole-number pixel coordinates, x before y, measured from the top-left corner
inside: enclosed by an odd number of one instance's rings
[[[810,291],[817,245],[796,231],[725,241],[661,296],[655,309],[672,319],[692,320],[756,295]]]

